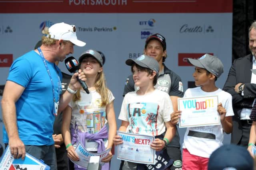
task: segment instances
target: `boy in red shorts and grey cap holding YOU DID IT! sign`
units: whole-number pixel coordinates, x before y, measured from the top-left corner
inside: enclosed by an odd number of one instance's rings
[[[217,57],[205,54],[199,59],[188,59],[188,63],[195,66],[193,77],[198,87],[186,90],[184,98],[218,96],[217,111],[221,124],[187,128],[182,145],[182,170],[207,170],[210,154],[222,146],[223,131],[227,134],[232,132],[232,96],[215,85],[223,73],[223,64]],[[201,108],[201,111],[204,110]],[[178,121],[180,115],[181,111],[176,111],[172,121]]]

